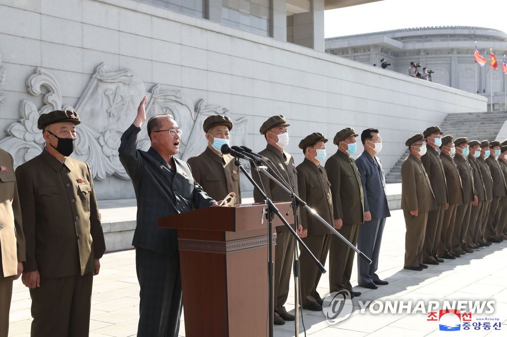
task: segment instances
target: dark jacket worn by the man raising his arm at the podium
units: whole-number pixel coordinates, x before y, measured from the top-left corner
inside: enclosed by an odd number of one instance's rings
[[[177,230],[158,228],[157,220],[195,208],[210,206],[210,198],[192,178],[190,166],[173,157],[176,172],[153,148],[137,149],[140,128],[133,124],[121,137],[120,161],[132,179],[137,199],[137,225],[132,245],[159,254],[176,254]]]

